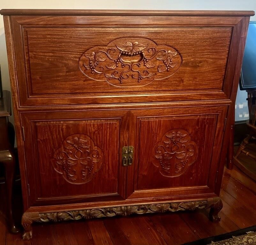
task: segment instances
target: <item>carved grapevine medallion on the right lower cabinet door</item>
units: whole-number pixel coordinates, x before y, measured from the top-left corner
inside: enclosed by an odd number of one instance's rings
[[[154,146],[152,162],[166,177],[178,177],[185,173],[198,156],[198,146],[183,129],[169,130]]]

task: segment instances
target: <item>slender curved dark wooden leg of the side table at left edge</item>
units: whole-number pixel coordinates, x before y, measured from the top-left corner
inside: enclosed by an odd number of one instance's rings
[[[12,217],[12,187],[13,187],[13,177],[15,171],[15,158],[12,152],[2,151],[1,153],[1,162],[5,167],[5,182],[7,190],[7,219],[8,225],[11,233],[19,232],[19,229],[15,226],[13,217]]]

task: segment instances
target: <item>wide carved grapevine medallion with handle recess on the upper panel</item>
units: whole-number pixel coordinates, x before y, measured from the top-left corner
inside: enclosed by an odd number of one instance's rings
[[[90,48],[79,59],[79,68],[88,78],[117,87],[139,87],[169,78],[181,65],[177,49],[138,37]]]

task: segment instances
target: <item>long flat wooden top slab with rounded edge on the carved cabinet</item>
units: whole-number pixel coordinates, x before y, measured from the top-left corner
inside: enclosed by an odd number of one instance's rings
[[[73,16],[253,16],[254,11],[2,9],[1,15]]]

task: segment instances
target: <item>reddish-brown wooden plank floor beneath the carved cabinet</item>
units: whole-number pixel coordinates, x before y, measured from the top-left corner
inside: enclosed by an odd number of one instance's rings
[[[15,217],[19,221],[22,205],[19,182],[15,188],[15,204],[19,206],[15,210]],[[4,193],[4,184],[0,184],[0,191]],[[255,182],[236,167],[233,170],[225,169],[221,190],[222,219],[219,223],[210,222],[205,210],[44,223],[33,226],[33,239],[30,241],[22,241],[21,233],[7,232],[2,202],[0,245],[183,244],[256,225],[255,193]]]

